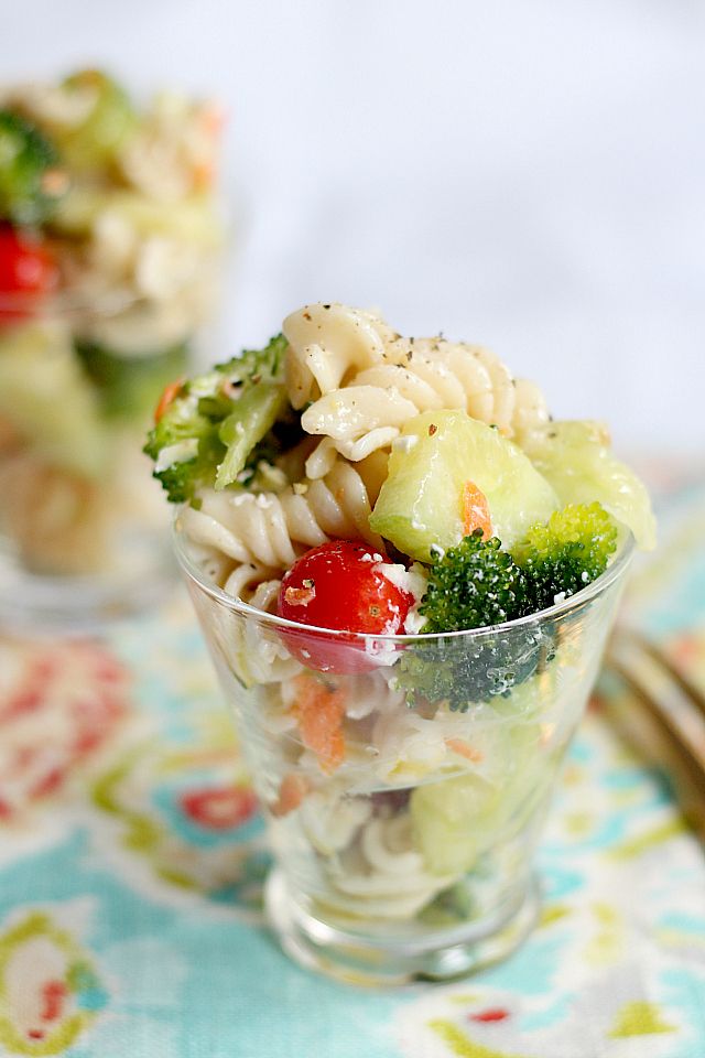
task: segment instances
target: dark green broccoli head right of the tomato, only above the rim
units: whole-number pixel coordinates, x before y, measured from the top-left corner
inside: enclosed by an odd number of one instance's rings
[[[500,625],[523,612],[523,575],[497,537],[482,530],[438,558],[419,607],[424,631],[459,631]]]

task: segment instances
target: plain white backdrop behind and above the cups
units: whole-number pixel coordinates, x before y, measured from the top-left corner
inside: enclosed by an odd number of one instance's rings
[[[230,115],[227,348],[306,301],[481,341],[617,447],[705,451],[699,0],[0,0],[2,77]]]

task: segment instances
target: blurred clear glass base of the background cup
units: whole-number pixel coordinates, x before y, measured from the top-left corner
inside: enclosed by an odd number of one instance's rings
[[[151,609],[177,582],[169,549],[148,562],[100,575],[51,575],[28,571],[0,546],[0,628],[13,634],[93,635],[124,617]]]

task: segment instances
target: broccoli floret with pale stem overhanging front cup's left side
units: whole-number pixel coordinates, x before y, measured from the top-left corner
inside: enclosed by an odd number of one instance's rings
[[[276,335],[265,348],[247,349],[183,384],[144,445],[155,463],[164,449],[180,446],[174,462],[153,475],[171,503],[186,503],[199,488],[225,488],[237,481],[251,451],[285,409],[285,348],[286,339]]]

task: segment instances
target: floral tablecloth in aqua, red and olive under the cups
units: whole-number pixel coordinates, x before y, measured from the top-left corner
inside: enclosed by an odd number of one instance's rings
[[[705,499],[627,607],[705,682]],[[541,922],[468,981],[357,991],[262,927],[257,805],[181,596],[102,641],[0,640],[0,1056],[705,1058],[705,856],[593,710]]]

